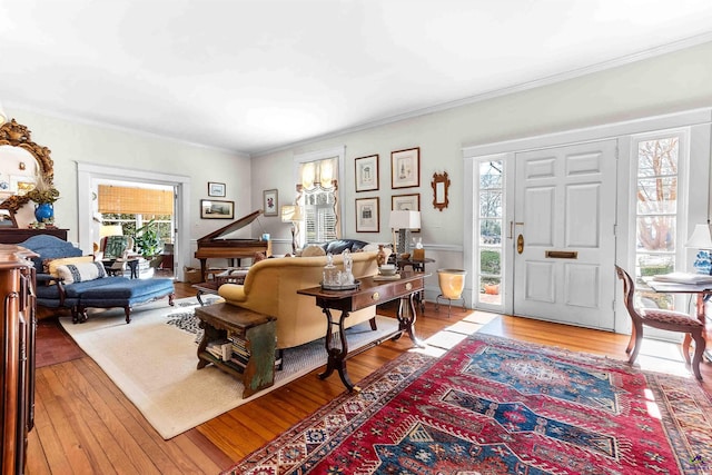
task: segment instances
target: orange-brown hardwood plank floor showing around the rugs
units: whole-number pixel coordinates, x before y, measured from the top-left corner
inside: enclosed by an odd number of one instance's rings
[[[176,284],[177,297],[195,295]],[[386,308],[386,313],[393,313]],[[475,315],[482,313],[476,311]],[[472,313],[436,313],[426,305],[416,329],[431,337]],[[558,346],[574,352],[626,359],[627,336],[585,328],[495,316],[481,333]],[[79,349],[56,318],[38,329],[34,429],[29,436],[27,474],[217,474],[343,393],[339,378],[319,380],[317,372],[211,419],[170,441],[164,441],[144,416]],[[353,382],[411,348],[403,337],[349,359]],[[642,356],[651,367],[679,367]],[[643,364],[643,363],[641,363]],[[320,370],[320,369],[319,369]],[[712,394],[712,365],[701,368],[703,387]]]

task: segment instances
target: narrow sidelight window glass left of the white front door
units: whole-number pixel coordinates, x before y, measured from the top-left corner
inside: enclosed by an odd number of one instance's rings
[[[479,164],[479,299],[502,304],[502,228],[504,162],[485,160]]]

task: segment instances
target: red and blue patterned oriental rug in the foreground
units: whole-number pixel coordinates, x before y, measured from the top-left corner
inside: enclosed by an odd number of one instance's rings
[[[712,399],[693,378],[476,334],[360,386],[225,473],[712,472]]]

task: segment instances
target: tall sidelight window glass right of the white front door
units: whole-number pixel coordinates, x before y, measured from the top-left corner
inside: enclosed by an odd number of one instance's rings
[[[644,307],[673,308],[669,294],[645,291],[642,277],[675,269],[679,160],[676,136],[637,144],[635,274]]]

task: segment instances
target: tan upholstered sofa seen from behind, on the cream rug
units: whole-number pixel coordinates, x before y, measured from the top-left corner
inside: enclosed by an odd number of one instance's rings
[[[375,251],[354,253],[353,273],[356,278],[378,273]],[[326,266],[326,257],[280,257],[264,259],[249,268],[244,285],[225,284],[218,293],[228,304],[277,317],[277,348],[291,348],[324,337],[326,317],[314,297],[297,290],[318,286]],[[334,264],[343,269],[340,255]],[[340,311],[333,313],[334,318]],[[346,327],[376,316],[376,306],[350,314]]]

